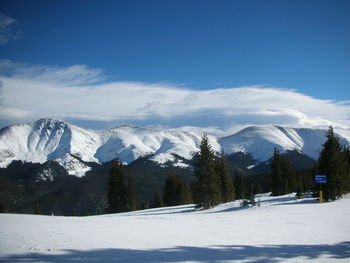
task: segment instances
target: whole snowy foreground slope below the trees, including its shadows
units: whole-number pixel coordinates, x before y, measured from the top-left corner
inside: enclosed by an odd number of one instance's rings
[[[350,262],[350,196],[319,204],[260,196],[132,213],[0,215],[2,262]]]

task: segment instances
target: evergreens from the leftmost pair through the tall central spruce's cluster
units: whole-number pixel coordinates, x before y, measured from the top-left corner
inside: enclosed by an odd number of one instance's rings
[[[189,185],[176,173],[170,173],[165,180],[163,193],[154,193],[148,207],[194,202],[198,208],[209,208],[219,203],[233,201],[235,183],[238,185],[239,197],[243,196],[243,175],[238,175],[237,178],[241,180],[234,182],[229,174],[225,155],[222,153],[216,156],[206,134],[202,137],[200,151],[195,155],[193,169],[193,174],[197,178],[195,183]],[[112,163],[109,172],[107,199],[109,213],[132,211],[137,208],[135,179],[118,161]],[[146,208],[146,205],[139,208]]]

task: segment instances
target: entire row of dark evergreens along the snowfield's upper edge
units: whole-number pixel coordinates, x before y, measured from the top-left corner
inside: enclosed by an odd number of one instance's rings
[[[268,182],[264,182],[262,187],[251,179],[254,177],[246,177],[240,172],[231,176],[225,154],[217,155],[208,135],[204,134],[193,161],[196,181],[189,185],[176,173],[169,174],[163,192],[155,193],[148,207],[195,203],[198,209],[208,209],[235,199],[249,199],[263,190],[271,191],[274,196],[296,192],[301,197],[306,191],[317,194],[319,186],[313,181],[315,174],[327,175],[327,183],[323,186],[324,199],[338,199],[350,191],[350,149],[341,145],[332,127],[326,137],[320,157],[309,172],[293,170],[288,158],[275,149]],[[246,179],[252,181],[249,186]],[[113,162],[110,170],[108,204],[108,212],[132,211],[137,208],[135,177],[126,172],[120,162]]]

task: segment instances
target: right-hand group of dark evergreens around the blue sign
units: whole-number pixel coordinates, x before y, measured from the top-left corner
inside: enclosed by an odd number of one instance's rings
[[[311,191],[314,196],[318,196],[319,190],[322,190],[324,200],[329,201],[339,199],[343,194],[350,192],[350,149],[342,146],[332,127],[328,129],[326,138],[317,163],[309,175],[298,175],[292,169],[289,160],[275,149],[271,161],[272,195],[296,192],[300,197],[303,192]],[[316,174],[325,175],[327,182],[322,185],[316,184]],[[313,183],[310,184],[310,180],[305,183],[305,176],[311,176]]]

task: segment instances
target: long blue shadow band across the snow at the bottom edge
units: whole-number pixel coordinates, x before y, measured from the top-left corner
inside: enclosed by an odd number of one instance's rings
[[[350,242],[334,245],[265,245],[265,246],[212,246],[173,248],[154,250],[134,249],[96,249],[96,250],[61,250],[60,255],[29,253],[0,258],[3,262],[221,262],[223,260],[249,262],[283,262],[287,259],[302,257],[303,259],[317,259],[320,257],[333,259],[350,258]]]

